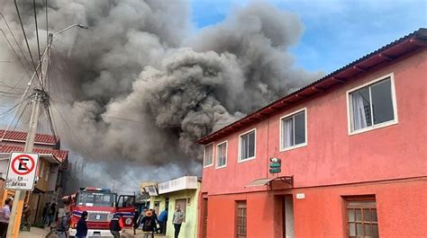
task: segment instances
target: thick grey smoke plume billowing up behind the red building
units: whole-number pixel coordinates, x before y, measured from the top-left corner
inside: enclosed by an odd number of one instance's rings
[[[36,2],[45,42],[44,1]],[[57,89],[51,97],[109,172],[124,164],[133,166],[138,179],[199,174],[197,138],[319,77],[295,66],[287,52],[299,40],[302,23],[271,4],[236,8],[223,22],[191,34],[183,1],[48,3],[50,31],[76,22],[90,27],[54,41],[51,75]],[[19,5],[37,55],[32,4]],[[0,0],[0,7],[23,43],[13,1]],[[6,46],[0,53],[13,57]],[[0,76],[19,75],[20,69],[10,71],[2,67]],[[58,125],[64,142],[87,157]],[[159,171],[142,169],[155,167]],[[168,167],[172,172],[165,174]]]

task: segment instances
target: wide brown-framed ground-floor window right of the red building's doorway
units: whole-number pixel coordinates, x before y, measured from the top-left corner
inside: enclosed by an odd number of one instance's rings
[[[379,237],[375,198],[347,198],[346,204],[349,237]]]

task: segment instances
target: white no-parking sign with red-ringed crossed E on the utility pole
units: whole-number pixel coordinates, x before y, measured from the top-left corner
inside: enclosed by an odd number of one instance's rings
[[[5,181],[6,190],[32,190],[39,154],[13,152]]]

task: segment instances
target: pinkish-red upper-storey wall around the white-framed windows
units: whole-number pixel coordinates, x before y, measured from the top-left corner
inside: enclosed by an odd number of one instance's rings
[[[271,177],[268,158],[282,160],[278,175],[294,175],[294,187],[322,186],[359,181],[380,181],[426,176],[427,158],[427,50],[349,79],[334,89],[303,101],[292,108],[218,139],[214,147],[228,140],[227,166],[204,168],[203,192],[209,195],[266,190],[247,189],[251,181]],[[398,123],[386,128],[349,136],[347,91],[393,73]],[[280,117],[306,108],[307,145],[279,151]],[[238,163],[239,135],[257,129],[256,157]]]

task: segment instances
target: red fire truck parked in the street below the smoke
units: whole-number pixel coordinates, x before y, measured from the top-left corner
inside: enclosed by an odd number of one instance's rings
[[[109,223],[114,214],[122,215],[123,225],[132,229],[132,217],[135,211],[135,196],[120,195],[109,189],[81,188],[75,194],[62,198],[71,212],[69,235],[76,235],[77,221],[84,211],[88,213],[87,236],[113,237]]]

